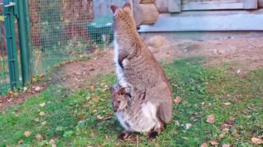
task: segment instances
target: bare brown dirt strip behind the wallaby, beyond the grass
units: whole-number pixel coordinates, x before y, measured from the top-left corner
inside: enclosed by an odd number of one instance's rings
[[[158,39],[158,37],[155,38]],[[147,46],[148,42],[145,41]],[[223,63],[230,62],[235,64],[233,66],[235,72],[240,70],[242,73],[246,73],[248,70],[263,68],[263,38],[206,41],[167,39],[165,42],[165,44],[155,43],[154,47],[148,46],[158,61],[170,62],[174,59],[203,56],[207,59],[207,67],[218,67]],[[87,61],[75,61],[62,65],[60,71],[51,73],[50,81],[66,86],[71,91],[87,89],[91,79],[98,77],[98,75],[114,72],[113,59],[114,50],[112,48],[105,51],[97,50]],[[35,93],[25,92],[15,97],[8,97],[8,99],[1,98],[0,110],[21,104],[27,97],[35,95]]]

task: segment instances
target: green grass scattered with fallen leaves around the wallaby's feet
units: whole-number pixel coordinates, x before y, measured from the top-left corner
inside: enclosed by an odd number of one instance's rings
[[[138,135],[139,146],[200,146],[210,141],[253,146],[251,138],[263,134],[263,69],[242,77],[228,66],[204,68],[203,63],[201,57],[162,63],[173,97],[182,101],[174,104],[172,122],[152,143]],[[123,128],[114,117],[107,90],[114,82],[115,75],[102,75],[91,81],[94,86],[88,90],[73,94],[61,85],[48,86],[24,104],[8,108],[0,115],[0,146],[15,146],[20,139],[21,146],[51,146],[51,139],[57,146],[136,146],[135,134],[116,143]],[[215,115],[214,124],[206,122],[207,115]],[[228,120],[233,125],[223,131]],[[185,130],[175,121],[192,127]],[[24,136],[26,130],[32,133],[29,137]]]

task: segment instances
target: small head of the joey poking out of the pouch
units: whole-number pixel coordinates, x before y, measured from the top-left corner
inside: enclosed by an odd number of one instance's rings
[[[111,92],[112,99],[112,107],[114,108],[114,112],[118,112],[119,110],[123,110],[127,106],[127,95],[125,88],[120,88],[119,90],[111,87],[109,88]]]

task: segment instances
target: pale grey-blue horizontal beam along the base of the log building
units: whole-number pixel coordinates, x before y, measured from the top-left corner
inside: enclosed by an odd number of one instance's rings
[[[139,32],[263,30],[263,9],[181,12],[160,14],[154,25],[141,25]]]

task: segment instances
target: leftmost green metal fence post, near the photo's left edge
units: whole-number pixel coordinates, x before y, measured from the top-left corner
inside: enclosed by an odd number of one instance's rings
[[[8,67],[10,75],[10,88],[19,87],[19,70],[17,63],[17,48],[15,39],[15,9],[14,3],[3,0],[3,13],[6,26],[6,46],[8,51]]]

